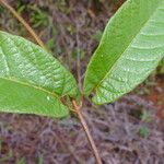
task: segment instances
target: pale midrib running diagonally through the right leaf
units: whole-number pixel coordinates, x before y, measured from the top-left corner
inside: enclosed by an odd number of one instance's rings
[[[162,2],[162,1],[161,1]],[[162,2],[163,3],[163,2]],[[161,3],[160,3],[161,4]],[[93,89],[96,90],[98,89],[98,86],[102,84],[102,82],[106,79],[106,77],[112,72],[112,70],[115,68],[115,66],[117,65],[117,62],[119,61],[119,59],[121,58],[121,56],[127,51],[127,49],[131,46],[131,44],[133,43],[133,40],[136,39],[136,37],[140,34],[140,32],[145,27],[145,25],[148,24],[148,22],[151,20],[151,17],[153,17],[153,15],[156,13],[156,11],[160,8],[160,4],[156,7],[156,9],[153,11],[153,13],[149,16],[148,21],[145,21],[145,23],[143,24],[143,26],[139,30],[139,32],[134,35],[134,37],[131,39],[129,46],[120,54],[120,56],[116,59],[116,61],[114,62],[114,65],[109,68],[108,72],[104,75],[104,78],[99,81],[99,83]]]

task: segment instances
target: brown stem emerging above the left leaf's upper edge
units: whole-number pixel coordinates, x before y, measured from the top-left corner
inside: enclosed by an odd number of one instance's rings
[[[44,49],[46,49],[42,39],[36,35],[34,30],[24,21],[24,19],[22,16],[20,16],[17,14],[17,12],[5,0],[0,0],[0,2],[3,4],[4,8],[7,8],[24,25],[24,27],[28,31],[28,33],[35,38],[37,44],[40,47],[43,47]]]

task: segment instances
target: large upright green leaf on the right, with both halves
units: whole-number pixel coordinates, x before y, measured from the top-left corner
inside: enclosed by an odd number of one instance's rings
[[[164,1],[128,0],[107,24],[84,79],[93,102],[114,102],[141,83],[164,56]]]

